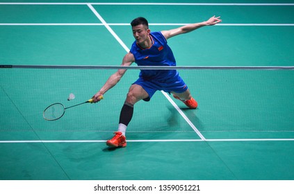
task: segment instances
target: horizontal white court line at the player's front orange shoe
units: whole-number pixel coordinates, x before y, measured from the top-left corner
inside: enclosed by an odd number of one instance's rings
[[[237,141],[294,141],[294,139],[141,139],[128,142],[237,142]],[[22,140],[0,141],[0,143],[105,143],[106,140]]]

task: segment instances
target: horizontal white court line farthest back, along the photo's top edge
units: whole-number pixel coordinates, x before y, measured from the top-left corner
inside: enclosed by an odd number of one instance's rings
[[[294,6],[294,3],[0,3],[0,5],[106,5],[106,6]]]

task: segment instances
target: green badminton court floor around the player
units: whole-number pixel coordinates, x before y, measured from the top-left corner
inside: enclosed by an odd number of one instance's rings
[[[0,65],[17,65],[0,68],[1,180],[294,179],[294,1],[29,2],[0,1]],[[206,67],[179,69],[197,109],[158,91],[136,104],[126,148],[108,148],[140,71],[128,69],[101,102],[42,117],[51,103],[81,103],[104,85],[133,42],[133,18],[156,31],[213,15],[222,23],[168,40],[178,67]]]

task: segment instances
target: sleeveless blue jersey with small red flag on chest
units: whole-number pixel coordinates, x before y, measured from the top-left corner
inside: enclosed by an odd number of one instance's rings
[[[176,66],[176,60],[172,49],[161,32],[152,32],[149,34],[152,40],[152,46],[149,48],[140,48],[133,42],[131,53],[138,66]],[[144,80],[167,80],[178,76],[175,69],[172,70],[144,70],[140,72],[140,78]]]

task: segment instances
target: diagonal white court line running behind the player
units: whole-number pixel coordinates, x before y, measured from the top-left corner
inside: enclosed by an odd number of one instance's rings
[[[126,50],[126,52],[129,52],[129,48],[126,46],[126,44],[124,44],[124,42],[122,42],[122,40],[120,39],[120,37],[118,37],[116,35],[116,33],[113,31],[113,29],[108,26],[108,24],[106,23],[106,21],[101,17],[101,15],[99,15],[99,13],[97,12],[97,10],[95,10],[95,8],[93,8],[92,5],[90,5],[90,3],[88,3],[89,8],[92,10],[92,12],[94,12],[94,14],[98,17],[98,19],[100,19],[100,21],[102,22],[102,24],[105,24],[106,28],[109,30],[109,32],[113,35],[113,37],[115,37],[115,39],[117,39],[117,41],[120,43],[120,45],[122,45],[122,47],[124,48],[124,50]],[[183,116],[183,118],[186,120],[186,122],[193,128],[193,130],[200,136],[200,138],[202,140],[205,140],[204,136],[199,132],[199,130],[197,130],[197,128],[193,125],[193,123],[189,120],[189,118],[183,114],[183,112],[181,111],[181,109],[179,109],[179,107],[177,106],[176,103],[174,103],[174,101],[170,98],[170,96],[168,96],[167,94],[165,94],[165,92],[163,92],[163,95],[168,98],[168,100],[170,101],[170,103],[172,103],[172,105],[174,106],[174,108],[177,109],[177,111],[181,114],[181,116]]]

